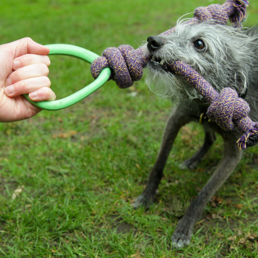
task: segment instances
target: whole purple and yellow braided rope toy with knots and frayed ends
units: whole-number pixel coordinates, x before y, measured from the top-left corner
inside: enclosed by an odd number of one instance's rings
[[[227,0],[224,4],[211,4],[207,7],[198,7],[194,17],[186,23],[199,23],[206,20],[216,20],[226,25],[228,21],[236,28],[241,28],[242,21],[246,18],[247,0]],[[163,32],[162,36],[169,35],[176,27]],[[110,67],[111,76],[120,88],[130,87],[134,81],[142,77],[142,69],[150,62],[152,56],[146,54],[144,46],[134,50],[130,45],[106,49],[102,56],[91,64],[92,76],[98,78],[102,69]],[[237,127],[242,136],[237,141],[239,150],[246,149],[258,143],[258,122],[253,122],[249,117],[248,103],[238,98],[232,88],[224,88],[217,93],[214,88],[183,61],[168,64],[171,70],[185,78],[210,104],[207,116],[214,120],[223,130],[233,130]]]

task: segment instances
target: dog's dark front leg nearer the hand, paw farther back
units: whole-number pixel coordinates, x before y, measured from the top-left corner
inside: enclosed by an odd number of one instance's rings
[[[184,114],[185,110],[176,108],[169,117],[162,138],[158,157],[152,168],[146,188],[142,194],[134,201],[133,207],[146,206],[153,202],[156,190],[163,176],[163,169],[166,164],[168,154],[172,148],[173,142],[179,129],[190,122],[189,116]]]

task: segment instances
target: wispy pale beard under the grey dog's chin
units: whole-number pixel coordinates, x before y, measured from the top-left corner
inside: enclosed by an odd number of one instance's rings
[[[181,100],[202,99],[197,90],[187,80],[170,71],[165,71],[151,63],[146,67],[145,82],[150,91],[162,98],[180,103]]]

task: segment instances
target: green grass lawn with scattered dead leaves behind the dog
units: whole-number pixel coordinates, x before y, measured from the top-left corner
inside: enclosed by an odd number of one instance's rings
[[[246,26],[257,23],[258,3],[250,2]],[[215,1],[4,1],[0,44],[29,36],[98,54],[120,44],[137,48],[210,3]],[[93,80],[81,60],[51,56],[51,62],[58,98]],[[132,209],[170,109],[144,80],[125,90],[107,82],[70,108],[0,124],[0,257],[258,257],[257,147],[245,152],[181,250],[171,249],[170,236],[218,163],[220,137],[196,170],[182,171],[178,165],[203,140],[200,126],[182,128],[156,203],[148,211]]]

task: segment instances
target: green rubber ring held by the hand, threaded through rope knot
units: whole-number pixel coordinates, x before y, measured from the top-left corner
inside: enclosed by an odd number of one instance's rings
[[[50,49],[49,55],[70,55],[72,57],[80,58],[88,63],[92,63],[99,55],[82,47],[69,44],[50,44],[46,45]],[[28,94],[24,94],[25,98],[34,106],[46,110],[59,110],[67,108],[80,100],[86,98],[88,95],[98,90],[110,77],[110,68],[104,68],[99,77],[83,89],[73,93],[72,95],[60,100],[53,101],[32,101]]]

